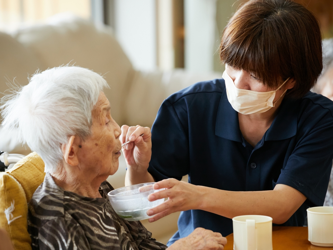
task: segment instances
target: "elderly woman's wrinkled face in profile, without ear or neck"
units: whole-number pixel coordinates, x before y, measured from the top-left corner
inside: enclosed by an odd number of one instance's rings
[[[110,103],[103,92],[93,108],[92,117],[92,134],[81,143],[79,150],[80,165],[87,175],[107,177],[118,170],[121,129],[111,117]]]

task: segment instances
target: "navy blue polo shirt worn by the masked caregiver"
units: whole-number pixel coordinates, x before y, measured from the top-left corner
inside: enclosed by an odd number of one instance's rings
[[[309,91],[298,100],[284,98],[253,148],[241,134],[224,80],[199,82],[172,94],[160,107],[148,171],[157,181],[188,174],[194,185],[229,191],[291,186],[307,200],[283,225],[303,226],[306,209],[324,203],[333,158],[332,114],[333,102],[322,95]],[[226,236],[232,233],[232,220],[203,210],[183,211],[170,242],[197,227]]]

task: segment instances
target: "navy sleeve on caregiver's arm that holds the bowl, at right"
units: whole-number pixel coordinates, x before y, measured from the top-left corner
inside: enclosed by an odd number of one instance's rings
[[[302,131],[276,184],[291,186],[307,198],[307,205],[322,206],[333,158],[333,118],[330,112]]]

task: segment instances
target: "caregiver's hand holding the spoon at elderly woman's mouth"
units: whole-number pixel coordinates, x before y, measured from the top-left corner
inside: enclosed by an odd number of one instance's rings
[[[144,135],[140,136],[142,134]],[[128,141],[131,142],[122,148],[127,166],[147,171],[152,156],[152,133],[150,128],[139,125],[135,127],[123,125],[120,142],[124,144]]]

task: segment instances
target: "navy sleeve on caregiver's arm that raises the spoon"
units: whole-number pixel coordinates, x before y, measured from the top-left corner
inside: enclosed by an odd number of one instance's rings
[[[188,121],[185,100],[165,100],[152,127],[152,159],[148,171],[156,181],[181,180],[189,172]]]

